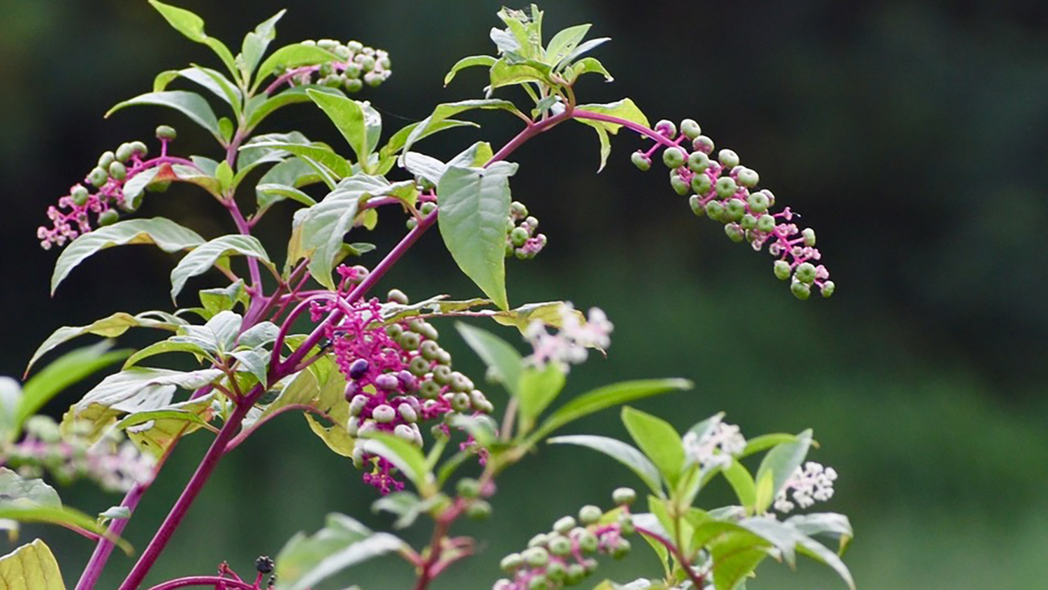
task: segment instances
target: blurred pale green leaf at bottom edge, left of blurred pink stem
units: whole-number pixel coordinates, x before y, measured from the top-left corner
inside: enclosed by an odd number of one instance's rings
[[[298,533],[277,555],[282,590],[306,590],[336,572],[408,545],[386,532],[372,532],[355,520],[337,513],[312,537]]]

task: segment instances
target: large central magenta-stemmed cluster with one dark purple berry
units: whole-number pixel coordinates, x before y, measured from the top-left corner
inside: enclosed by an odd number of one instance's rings
[[[422,319],[386,323],[377,299],[347,304],[343,294],[367,277],[363,266],[339,267],[342,276],[340,297],[314,302],[310,313],[320,322],[336,307],[344,312],[337,324],[329,325],[326,336],[331,342],[335,364],[346,376],[346,400],[350,436],[367,438],[385,432],[408,442],[422,445],[419,422],[443,420],[437,424],[447,433],[447,420],[455,414],[488,414],[495,407],[474,383],[451,368],[451,354],[437,343],[436,328]],[[390,291],[389,301],[407,305],[403,292]],[[370,464],[364,481],[383,494],[403,488],[393,465],[372,456],[357,444],[353,462],[358,467]]]

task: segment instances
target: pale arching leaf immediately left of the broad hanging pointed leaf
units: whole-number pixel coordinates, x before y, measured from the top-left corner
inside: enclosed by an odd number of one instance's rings
[[[355,174],[344,178],[321,202],[304,210],[302,250],[309,258],[309,272],[325,287],[334,290],[331,269],[346,232],[353,225],[363,200],[389,192],[391,185],[380,176]],[[288,258],[290,261],[290,257]]]

